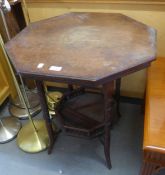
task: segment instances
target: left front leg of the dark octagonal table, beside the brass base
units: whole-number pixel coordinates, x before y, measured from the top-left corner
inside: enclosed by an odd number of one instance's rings
[[[36,81],[36,86],[37,86],[37,89],[38,89],[41,108],[42,108],[42,111],[43,111],[43,118],[45,120],[45,124],[46,124],[48,135],[49,135],[49,141],[50,142],[49,142],[49,147],[48,147],[48,154],[50,154],[52,149],[53,149],[55,136],[54,136],[54,133],[53,133],[52,123],[51,123],[51,119],[50,119],[50,116],[49,116],[49,110],[48,110],[47,101],[46,101],[46,97],[45,97],[45,90],[44,90],[43,82],[42,81]]]

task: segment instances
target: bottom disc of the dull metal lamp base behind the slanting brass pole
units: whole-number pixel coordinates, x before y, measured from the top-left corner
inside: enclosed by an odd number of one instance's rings
[[[41,111],[41,106],[38,105],[34,108],[29,109],[31,116],[37,115]],[[19,119],[27,119],[28,118],[28,113],[27,110],[24,108],[19,108],[15,105],[10,105],[9,106],[9,112],[12,116],[17,117]]]

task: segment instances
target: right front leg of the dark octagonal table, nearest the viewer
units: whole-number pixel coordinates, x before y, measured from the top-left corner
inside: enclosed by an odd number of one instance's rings
[[[103,94],[104,94],[104,153],[106,158],[106,163],[108,168],[111,168],[110,160],[110,125],[113,120],[112,116],[112,107],[114,104],[113,100],[114,92],[114,82],[110,82],[103,85]]]

